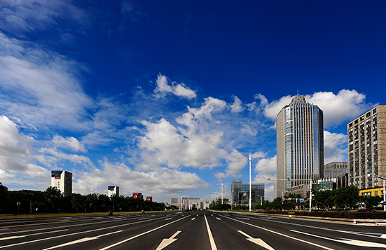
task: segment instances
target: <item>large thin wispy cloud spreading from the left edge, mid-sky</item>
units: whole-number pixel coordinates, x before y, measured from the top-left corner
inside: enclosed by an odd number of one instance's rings
[[[86,108],[77,74],[81,65],[60,54],[0,33],[0,109],[30,126],[83,128]]]

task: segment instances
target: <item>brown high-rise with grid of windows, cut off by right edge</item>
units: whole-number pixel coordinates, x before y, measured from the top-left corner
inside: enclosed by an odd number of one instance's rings
[[[386,105],[378,105],[347,124],[349,184],[379,196],[386,178]]]

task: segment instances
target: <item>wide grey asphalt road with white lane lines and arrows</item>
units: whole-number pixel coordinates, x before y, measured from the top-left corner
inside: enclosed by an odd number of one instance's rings
[[[0,249],[352,250],[385,247],[385,227],[253,214],[163,212],[0,221]]]

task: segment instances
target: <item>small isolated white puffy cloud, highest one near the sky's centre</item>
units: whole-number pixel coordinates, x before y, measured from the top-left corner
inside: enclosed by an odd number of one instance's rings
[[[169,84],[165,75],[158,75],[157,87],[154,89],[156,97],[164,96],[167,93],[175,94],[176,96],[185,97],[188,99],[195,98],[195,91],[186,87],[184,83],[177,84],[177,82],[172,82]]]

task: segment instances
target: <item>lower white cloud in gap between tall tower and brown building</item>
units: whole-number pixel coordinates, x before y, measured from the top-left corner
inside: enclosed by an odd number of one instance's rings
[[[347,161],[347,135],[324,131],[324,164]]]

